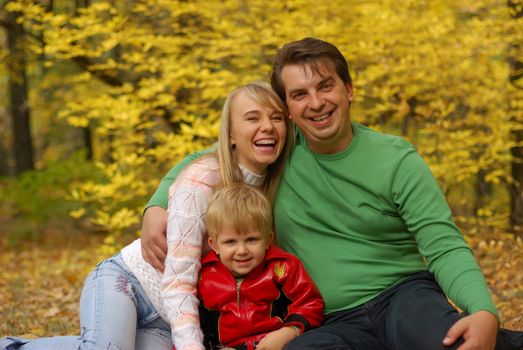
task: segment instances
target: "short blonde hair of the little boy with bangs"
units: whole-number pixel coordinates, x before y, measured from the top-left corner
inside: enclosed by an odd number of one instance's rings
[[[272,207],[256,188],[233,183],[214,192],[205,214],[209,237],[216,240],[224,229],[238,233],[258,230],[267,241],[272,232]]]

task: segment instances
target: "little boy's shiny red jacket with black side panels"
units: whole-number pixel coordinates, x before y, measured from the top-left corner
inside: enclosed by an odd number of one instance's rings
[[[282,325],[303,332],[323,321],[323,299],[301,261],[276,247],[244,279],[236,279],[211,251],[202,260],[198,297],[208,348],[254,349]]]

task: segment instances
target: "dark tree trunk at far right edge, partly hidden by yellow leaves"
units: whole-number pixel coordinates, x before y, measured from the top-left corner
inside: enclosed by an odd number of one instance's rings
[[[508,7],[511,10],[512,18],[518,20],[523,16],[523,8],[521,2],[518,0],[508,0]],[[512,44],[513,48],[516,49],[513,52],[519,52],[521,48],[520,42]],[[517,57],[509,57],[509,64],[511,74],[509,77],[510,83],[517,89],[523,88],[523,62]],[[521,116],[514,115],[515,121],[519,124],[523,124]],[[519,119],[519,120],[518,120]],[[523,232],[523,130],[515,130],[512,132],[514,140],[518,143],[518,146],[511,149],[512,153],[512,164],[511,172],[514,182],[510,185],[510,225],[516,232]]]

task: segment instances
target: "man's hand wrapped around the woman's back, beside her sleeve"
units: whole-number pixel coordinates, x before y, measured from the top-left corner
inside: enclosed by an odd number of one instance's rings
[[[163,271],[167,256],[167,210],[147,208],[142,221],[142,254],[149,264]]]

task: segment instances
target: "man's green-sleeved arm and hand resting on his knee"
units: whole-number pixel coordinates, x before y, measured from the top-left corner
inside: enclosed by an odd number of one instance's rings
[[[393,181],[393,198],[400,215],[414,232],[420,253],[427,258],[445,294],[470,313],[451,327],[443,340],[460,350],[493,349],[497,310],[474,255],[453,222],[445,197],[428,166],[415,152],[406,155]]]

